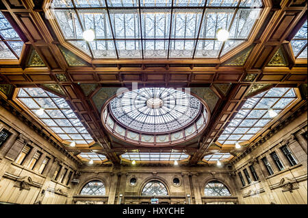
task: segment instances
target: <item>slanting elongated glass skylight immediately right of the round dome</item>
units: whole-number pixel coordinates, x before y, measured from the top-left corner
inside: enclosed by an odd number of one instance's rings
[[[274,119],[268,109],[272,108],[279,114],[296,98],[294,88],[271,88],[247,99],[219,136],[218,142],[235,144],[248,141]]]

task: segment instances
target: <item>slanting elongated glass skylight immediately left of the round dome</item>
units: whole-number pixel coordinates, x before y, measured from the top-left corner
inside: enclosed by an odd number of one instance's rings
[[[20,88],[16,99],[63,141],[76,144],[93,142],[84,125],[65,99],[42,88]],[[38,110],[44,111],[39,113]]]

